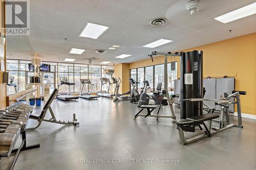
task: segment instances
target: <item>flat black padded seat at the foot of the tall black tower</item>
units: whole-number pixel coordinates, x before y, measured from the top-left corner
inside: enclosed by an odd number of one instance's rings
[[[208,114],[202,114],[199,116],[188,117],[186,119],[181,119],[176,122],[178,126],[177,129],[181,128],[183,131],[195,132],[196,127],[199,127],[200,130],[202,131],[203,130],[203,128],[201,127],[201,124],[202,124],[206,130],[205,133],[210,137],[211,136],[210,130],[207,128],[204,122],[207,120],[218,118],[218,117],[219,115],[217,114],[208,113]]]

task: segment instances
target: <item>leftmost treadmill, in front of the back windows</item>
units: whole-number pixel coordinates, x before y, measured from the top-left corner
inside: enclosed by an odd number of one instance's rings
[[[70,100],[76,100],[79,99],[79,96],[75,96],[75,95],[70,95],[70,86],[75,85],[75,83],[70,83],[68,82],[68,78],[67,77],[60,77],[59,78],[60,83],[58,84],[58,90],[59,90],[59,86],[61,85],[68,85],[69,86],[69,93],[67,94],[57,94],[57,98],[63,101],[70,101]]]

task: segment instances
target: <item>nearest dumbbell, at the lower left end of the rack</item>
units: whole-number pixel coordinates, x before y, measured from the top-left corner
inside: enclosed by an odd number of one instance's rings
[[[0,133],[0,157],[10,156],[17,136],[17,134]]]

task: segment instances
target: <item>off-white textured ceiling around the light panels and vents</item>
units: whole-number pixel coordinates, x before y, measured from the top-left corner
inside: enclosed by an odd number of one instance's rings
[[[253,0],[201,0],[200,12],[190,16],[188,0],[33,0],[30,1],[29,42],[42,61],[63,62],[74,58],[76,63],[88,63],[88,58],[114,63],[131,63],[147,58],[152,51],[180,51],[211,42],[256,32],[256,15],[223,24],[213,18],[252,4]],[[165,17],[168,23],[155,27],[151,20]],[[78,37],[86,23],[109,26],[97,40]],[[233,30],[229,33],[229,30]],[[64,38],[68,40],[65,41]],[[142,47],[160,38],[174,40],[156,48]],[[7,37],[8,57],[31,59],[23,55],[30,51],[26,38]],[[26,41],[26,42],[23,42]],[[112,45],[120,45],[109,50]],[[71,47],[87,49],[82,55],[69,54]],[[105,54],[94,51],[103,49]],[[23,51],[22,54],[18,51]],[[10,55],[12,54],[12,55]],[[132,57],[117,59],[121,54]]]

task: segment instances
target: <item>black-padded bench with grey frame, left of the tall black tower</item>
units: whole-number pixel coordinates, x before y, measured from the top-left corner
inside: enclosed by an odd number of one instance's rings
[[[133,119],[136,119],[138,116],[144,116],[145,118],[146,117],[156,117],[156,120],[158,120],[159,117],[165,117],[165,118],[173,118],[173,116],[168,116],[168,115],[159,115],[159,111],[161,109],[161,106],[164,105],[164,106],[167,106],[168,105],[168,102],[166,99],[163,99],[161,101],[161,104],[159,106],[159,109],[157,111],[157,114],[151,114],[154,109],[157,108],[157,105],[141,105],[140,108],[141,110],[134,116]],[[147,110],[147,114],[141,114],[142,110],[146,109]]]

